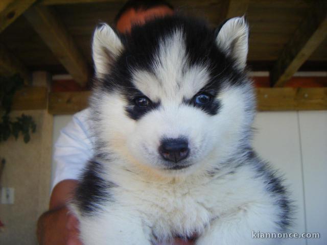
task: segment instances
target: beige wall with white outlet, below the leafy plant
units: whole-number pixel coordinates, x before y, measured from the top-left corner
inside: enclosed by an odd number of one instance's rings
[[[0,156],[6,159],[2,186],[15,188],[13,205],[0,204],[0,244],[37,244],[36,222],[48,208],[51,179],[53,116],[45,110],[15,111],[33,116],[36,133],[29,143],[22,137],[0,143]]]

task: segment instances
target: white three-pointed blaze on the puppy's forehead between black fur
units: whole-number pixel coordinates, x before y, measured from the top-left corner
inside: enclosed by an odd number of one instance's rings
[[[162,37],[153,55],[152,69],[134,69],[132,83],[152,101],[168,99],[182,102],[191,98],[209,82],[206,65],[191,65],[186,54],[184,32],[176,28]]]

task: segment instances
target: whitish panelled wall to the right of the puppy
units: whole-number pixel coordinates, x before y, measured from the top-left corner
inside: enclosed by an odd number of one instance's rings
[[[319,239],[286,239],[283,245],[327,244],[327,111],[260,112],[254,149],[281,170],[296,206],[291,232]]]

